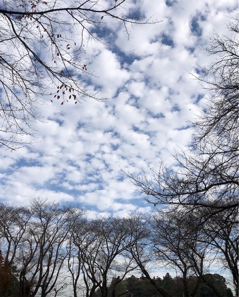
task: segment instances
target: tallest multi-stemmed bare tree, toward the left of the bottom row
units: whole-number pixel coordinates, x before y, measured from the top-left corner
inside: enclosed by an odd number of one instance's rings
[[[58,293],[56,284],[67,257],[68,234],[83,213],[78,207],[60,207],[59,203],[39,199],[32,201],[31,211],[35,221],[29,233],[38,247],[38,253],[35,265],[27,269],[26,275],[31,275],[29,279],[34,287],[31,296],[35,296],[41,288],[41,297],[45,297],[53,290]],[[67,286],[66,279],[67,276],[61,279],[62,284],[58,290]]]

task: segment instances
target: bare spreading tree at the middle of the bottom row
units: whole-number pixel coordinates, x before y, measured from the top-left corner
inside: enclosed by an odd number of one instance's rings
[[[137,267],[126,251],[132,244],[127,220],[113,216],[100,217],[88,220],[84,225],[74,230],[73,238],[79,250],[79,269],[83,274],[86,296],[93,296],[97,288],[101,296],[107,296],[109,279],[115,277],[117,285]]]

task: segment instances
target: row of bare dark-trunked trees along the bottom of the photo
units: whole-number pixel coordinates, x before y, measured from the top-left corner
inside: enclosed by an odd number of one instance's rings
[[[142,279],[154,291],[151,296],[204,296],[203,290],[230,296],[225,280],[210,274],[218,261],[238,285],[237,228],[219,232],[215,226],[221,220],[220,213],[199,227],[179,211],[163,210],[91,219],[77,205],[40,198],[27,206],[1,203],[0,296],[142,296],[137,293]],[[164,267],[178,275],[170,290],[168,275],[152,276],[152,269]],[[140,282],[129,277],[136,271],[142,273]],[[129,290],[127,282],[137,290]],[[122,286],[125,291],[117,295]]]

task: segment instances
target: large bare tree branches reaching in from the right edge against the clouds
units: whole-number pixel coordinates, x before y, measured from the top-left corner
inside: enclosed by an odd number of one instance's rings
[[[151,178],[127,173],[149,203],[184,207],[195,215],[203,208],[199,224],[238,209],[238,19],[231,20],[228,30],[230,37],[215,33],[206,48],[216,59],[196,78],[209,102],[191,124],[196,131],[188,150],[172,154],[176,169],[161,161],[159,170],[150,168]]]

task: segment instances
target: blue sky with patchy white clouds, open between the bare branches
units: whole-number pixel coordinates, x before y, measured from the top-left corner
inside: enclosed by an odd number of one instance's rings
[[[28,204],[31,198],[81,203],[89,216],[153,211],[121,171],[140,176],[159,160],[174,163],[170,152],[185,148],[206,94],[189,72],[209,65],[202,50],[215,30],[238,12],[238,1],[128,1],[127,11],[155,24],[129,27],[105,18],[107,44],[92,41],[88,69],[96,74],[89,89],[98,102],[60,105],[49,99],[39,107],[44,122],[34,124],[32,146],[17,151],[0,147],[0,202]],[[150,173],[149,173],[150,176]]]

